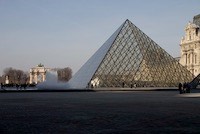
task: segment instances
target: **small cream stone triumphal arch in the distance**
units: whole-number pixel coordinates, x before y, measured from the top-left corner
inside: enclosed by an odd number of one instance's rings
[[[50,71],[50,68],[44,67],[44,65],[39,64],[37,67],[33,67],[30,69],[30,84],[37,84],[45,81],[46,72]]]

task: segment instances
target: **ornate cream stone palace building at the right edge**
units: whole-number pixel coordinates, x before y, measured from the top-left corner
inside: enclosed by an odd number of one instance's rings
[[[185,27],[185,36],[181,39],[180,63],[197,76],[200,73],[200,14]]]

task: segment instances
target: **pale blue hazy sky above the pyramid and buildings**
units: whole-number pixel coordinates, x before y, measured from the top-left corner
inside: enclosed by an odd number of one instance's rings
[[[173,57],[200,0],[0,0],[0,75],[7,67],[75,73],[129,19]]]

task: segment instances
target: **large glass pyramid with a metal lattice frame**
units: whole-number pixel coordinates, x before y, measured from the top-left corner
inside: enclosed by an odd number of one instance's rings
[[[174,87],[194,78],[126,20],[69,81],[73,88]]]

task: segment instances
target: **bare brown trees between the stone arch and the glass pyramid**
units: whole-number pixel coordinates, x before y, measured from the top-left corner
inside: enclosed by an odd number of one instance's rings
[[[69,67],[58,69],[58,80],[67,82],[72,78],[72,69]]]

